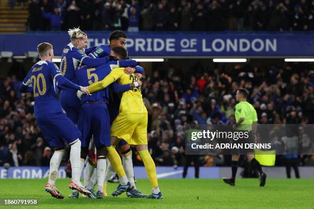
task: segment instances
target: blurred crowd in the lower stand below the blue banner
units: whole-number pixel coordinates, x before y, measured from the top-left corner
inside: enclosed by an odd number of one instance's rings
[[[186,161],[228,165],[228,156],[186,156],[184,126],[193,121],[234,123],[234,95],[239,88],[249,90],[259,123],[314,123],[313,67],[257,63],[212,68],[198,62],[182,73],[180,66],[167,70],[155,66],[151,75],[144,74],[142,94],[149,113],[148,146],[156,165],[175,168]],[[0,82],[0,165],[48,166],[52,150],[36,125],[33,95],[19,94],[19,83],[15,76]],[[282,159],[277,156],[278,165]],[[314,156],[296,159],[298,164],[314,165]],[[135,150],[133,163],[142,164]]]

